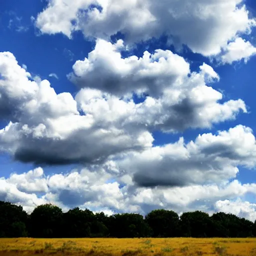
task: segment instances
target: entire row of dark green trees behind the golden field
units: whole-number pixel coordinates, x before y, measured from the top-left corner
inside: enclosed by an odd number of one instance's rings
[[[106,215],[75,207],[63,212],[43,204],[28,214],[22,206],[0,201],[0,237],[251,237],[254,223],[234,214],[156,209],[138,213]]]

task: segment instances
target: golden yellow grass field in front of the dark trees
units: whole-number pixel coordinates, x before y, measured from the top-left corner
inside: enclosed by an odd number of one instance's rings
[[[2,255],[256,256],[256,238],[0,238]]]

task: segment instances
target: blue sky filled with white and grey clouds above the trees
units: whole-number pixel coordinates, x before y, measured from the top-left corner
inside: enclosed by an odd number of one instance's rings
[[[254,0],[0,1],[0,200],[256,219]]]

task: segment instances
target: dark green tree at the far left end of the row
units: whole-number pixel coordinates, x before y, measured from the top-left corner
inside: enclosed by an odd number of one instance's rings
[[[0,201],[0,237],[27,236],[27,213],[22,206]]]

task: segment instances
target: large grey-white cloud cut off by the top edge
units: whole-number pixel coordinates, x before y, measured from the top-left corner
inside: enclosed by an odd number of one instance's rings
[[[203,55],[219,53],[228,40],[254,25],[242,0],[50,0],[36,18],[43,33],[70,38],[81,30],[106,39],[120,31],[127,42],[166,34]]]

